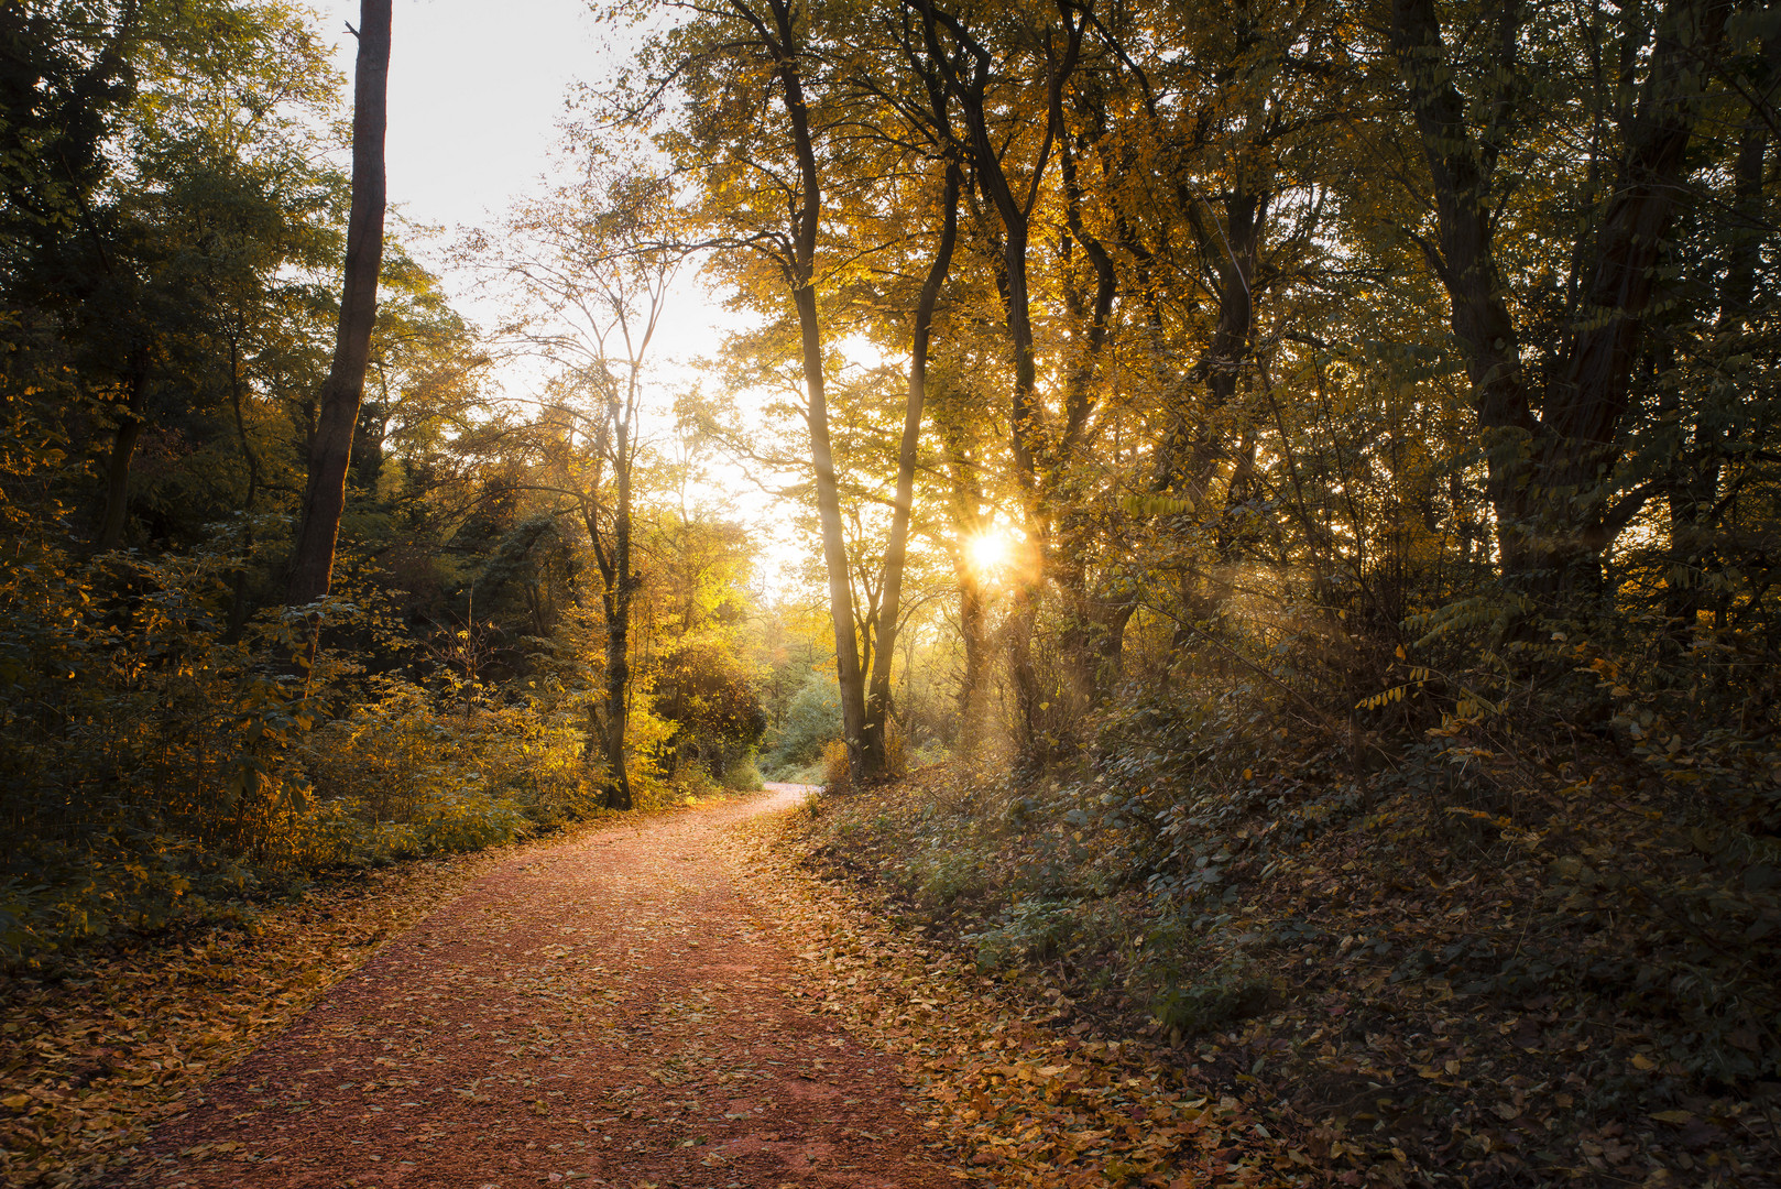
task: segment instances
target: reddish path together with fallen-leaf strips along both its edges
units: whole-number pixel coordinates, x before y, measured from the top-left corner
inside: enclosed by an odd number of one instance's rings
[[[1047,1027],[764,849],[807,797],[422,865],[14,986],[9,1182],[1256,1178],[1238,1144],[1266,1130],[1234,1098]]]

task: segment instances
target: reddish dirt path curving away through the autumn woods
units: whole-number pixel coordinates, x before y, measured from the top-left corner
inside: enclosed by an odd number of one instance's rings
[[[139,1184],[956,1184],[714,845],[800,795],[493,870],[194,1095]]]

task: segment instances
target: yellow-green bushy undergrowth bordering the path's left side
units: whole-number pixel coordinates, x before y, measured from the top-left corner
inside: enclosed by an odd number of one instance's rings
[[[224,554],[57,553],[0,603],[4,955],[153,929],[290,877],[467,850],[595,808],[581,733],[540,706],[440,704],[301,620],[226,640]],[[338,629],[374,615],[335,604]],[[346,713],[337,717],[335,708]]]

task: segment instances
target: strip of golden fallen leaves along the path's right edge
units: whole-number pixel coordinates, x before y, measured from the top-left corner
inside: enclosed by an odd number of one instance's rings
[[[1241,1086],[1208,1093],[1152,1041],[1072,1029],[1069,1000],[987,977],[812,875],[807,841],[832,806],[744,824],[734,866],[764,922],[801,947],[809,975],[793,996],[903,1059],[937,1166],[1035,1189],[1313,1184],[1309,1157],[1286,1143],[1309,1125],[1288,1103]]]

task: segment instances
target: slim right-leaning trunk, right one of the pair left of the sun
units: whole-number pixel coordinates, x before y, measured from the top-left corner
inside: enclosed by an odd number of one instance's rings
[[[885,544],[883,603],[878,610],[878,644],[873,654],[871,686],[866,695],[866,726],[860,734],[866,777],[889,774],[889,747],[885,727],[890,717],[890,661],[896,656],[898,613],[903,599],[903,562],[908,549],[908,515],[915,499],[915,447],[921,444],[921,406],[928,396],[928,344],[933,335],[933,307],[940,299],[940,285],[953,266],[953,244],[958,239],[958,189],[962,184],[958,162],[946,162],[946,184],[940,194],[940,242],[933,264],[915,301],[915,326],[908,357],[908,405],[903,412],[903,440],[896,462],[896,508],[890,513],[890,538]]]

